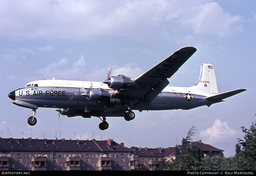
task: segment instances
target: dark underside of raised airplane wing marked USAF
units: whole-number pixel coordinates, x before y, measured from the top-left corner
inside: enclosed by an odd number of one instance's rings
[[[194,47],[179,49],[155,67],[133,80],[141,85],[141,88],[120,91],[115,95],[133,98],[129,102],[130,105],[142,112],[169,84],[167,78],[170,78],[195,52],[196,48]]]

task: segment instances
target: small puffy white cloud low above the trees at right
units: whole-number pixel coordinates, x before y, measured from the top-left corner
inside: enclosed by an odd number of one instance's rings
[[[211,128],[200,132],[200,137],[203,138],[206,143],[215,143],[227,141],[230,138],[234,138],[239,132],[231,129],[227,122],[221,122],[216,119]]]

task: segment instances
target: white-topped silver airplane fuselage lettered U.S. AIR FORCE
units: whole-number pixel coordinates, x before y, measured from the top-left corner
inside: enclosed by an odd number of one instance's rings
[[[36,85],[36,87],[34,86]],[[93,87],[90,88],[90,85]],[[115,104],[106,108],[105,103],[88,100],[82,93],[88,89],[107,90],[109,96],[114,91],[101,82],[67,81],[67,80],[40,80],[33,81],[26,87],[13,91],[16,105],[29,103],[37,107],[69,109],[70,113],[78,113],[87,109],[97,109],[92,116],[123,116],[125,107]],[[15,94],[14,94],[15,93]],[[188,94],[189,93],[189,94]],[[190,109],[211,104],[206,100],[207,94],[190,90],[189,87],[171,87],[165,89],[145,108],[145,110]],[[32,109],[33,106],[30,108]],[[136,110],[136,108],[133,108]],[[79,114],[79,113],[78,113]]]

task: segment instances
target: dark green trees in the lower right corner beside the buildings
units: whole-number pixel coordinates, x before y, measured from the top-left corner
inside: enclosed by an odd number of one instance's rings
[[[182,147],[175,147],[176,159],[173,162],[162,159],[157,170],[256,170],[256,122],[249,129],[241,128],[245,136],[238,139],[235,157],[225,158],[223,153],[213,156],[209,151],[209,157],[204,158],[202,150],[191,145],[192,136],[196,133],[193,126],[187,137],[182,139]]]

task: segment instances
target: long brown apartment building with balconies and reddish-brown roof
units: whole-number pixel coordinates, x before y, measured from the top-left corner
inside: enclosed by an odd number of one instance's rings
[[[202,142],[199,144],[201,147],[207,145]],[[209,146],[208,149],[212,147]],[[153,170],[158,167],[158,160],[175,157],[174,154],[174,147],[127,148],[124,143],[118,144],[113,139],[0,138],[0,170],[2,171]]]

